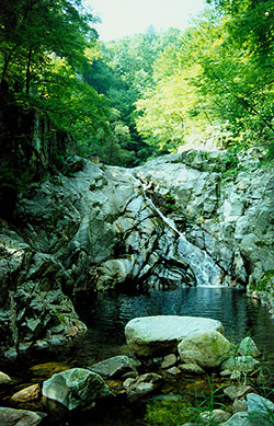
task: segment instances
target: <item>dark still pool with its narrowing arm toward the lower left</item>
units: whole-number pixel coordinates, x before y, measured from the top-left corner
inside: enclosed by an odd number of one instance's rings
[[[191,315],[221,321],[226,337],[239,343],[250,335],[261,350],[274,358],[274,322],[256,300],[230,288],[196,287],[176,290],[149,290],[138,293],[100,292],[79,300],[77,310],[88,332],[71,342],[26,353],[21,357],[26,369],[39,362],[65,362],[87,367],[111,356],[127,354],[125,325],[136,316]],[[23,359],[22,359],[23,358]],[[7,366],[8,367],[8,366]],[[16,369],[16,366],[13,367]],[[24,370],[26,376],[26,370]]]

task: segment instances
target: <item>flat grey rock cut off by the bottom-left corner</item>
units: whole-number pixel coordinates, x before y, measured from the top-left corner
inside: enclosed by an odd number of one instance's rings
[[[1,426],[36,426],[44,417],[46,417],[44,413],[0,407]]]

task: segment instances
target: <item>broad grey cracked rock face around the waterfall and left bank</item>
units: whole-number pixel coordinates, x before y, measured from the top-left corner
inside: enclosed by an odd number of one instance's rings
[[[253,283],[274,269],[274,177],[254,153],[184,151],[133,170],[70,158],[0,222],[0,346],[85,330],[78,291]],[[228,170],[229,171],[229,170]],[[41,342],[42,341],[42,342]]]

